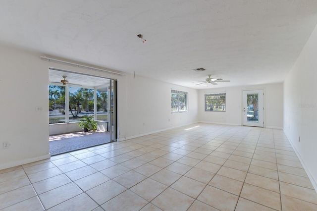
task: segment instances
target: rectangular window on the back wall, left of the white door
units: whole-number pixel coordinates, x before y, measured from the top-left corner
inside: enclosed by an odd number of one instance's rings
[[[226,94],[206,94],[205,111],[226,111]]]

